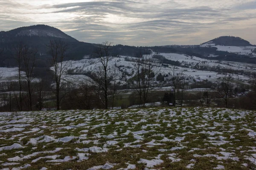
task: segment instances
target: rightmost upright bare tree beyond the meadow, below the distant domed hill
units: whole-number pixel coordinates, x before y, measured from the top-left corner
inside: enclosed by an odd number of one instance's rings
[[[228,106],[228,101],[230,97],[232,97],[233,91],[233,84],[232,84],[232,69],[230,68],[229,71],[223,74],[222,77],[219,78],[219,88],[218,93],[225,101],[225,107]]]

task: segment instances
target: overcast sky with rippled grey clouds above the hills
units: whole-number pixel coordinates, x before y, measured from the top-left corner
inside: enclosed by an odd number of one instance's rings
[[[190,45],[232,35],[256,44],[256,0],[0,0],[0,30],[46,24],[77,40]]]

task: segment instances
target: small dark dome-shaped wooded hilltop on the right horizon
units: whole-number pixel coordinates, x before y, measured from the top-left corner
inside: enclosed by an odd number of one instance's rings
[[[249,41],[246,41],[240,37],[233,36],[221,36],[210,40],[208,42],[202,43],[202,45],[206,44],[215,44],[215,45],[224,45],[224,46],[252,46]]]

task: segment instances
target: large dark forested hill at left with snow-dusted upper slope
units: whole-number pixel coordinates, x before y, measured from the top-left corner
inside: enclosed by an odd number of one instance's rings
[[[0,67],[13,67],[16,64],[15,61],[15,47],[23,42],[32,48],[38,49],[38,66],[47,66],[46,45],[49,44],[49,40],[59,38],[69,45],[68,59],[83,59],[84,56],[90,55],[96,48],[95,44],[79,42],[73,37],[65,34],[61,30],[46,26],[36,25],[20,27],[10,31],[0,32],[0,48],[4,49],[3,54],[0,56]]]

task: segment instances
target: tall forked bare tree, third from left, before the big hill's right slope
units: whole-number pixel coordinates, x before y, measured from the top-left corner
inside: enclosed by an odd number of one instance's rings
[[[55,38],[50,40],[47,45],[48,54],[51,56],[51,66],[53,79],[55,81],[56,109],[60,110],[61,88],[65,85],[64,80],[67,78],[67,71],[70,70],[72,62],[67,61],[68,45],[61,39]]]

